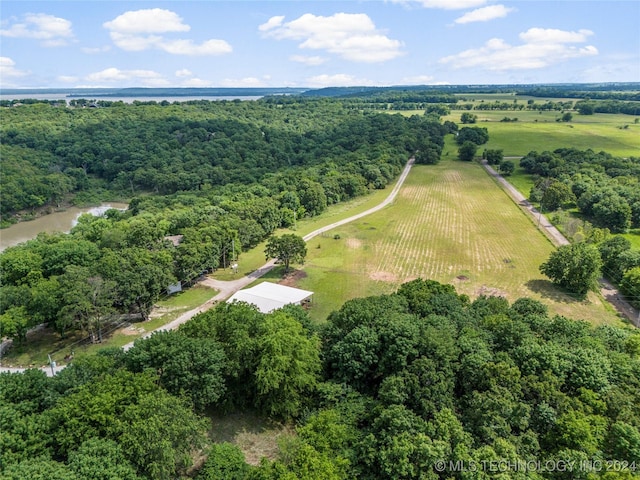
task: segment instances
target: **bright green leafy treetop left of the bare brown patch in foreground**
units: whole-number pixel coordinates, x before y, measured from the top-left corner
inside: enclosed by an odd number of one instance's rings
[[[96,377],[46,413],[57,455],[70,455],[94,437],[113,440],[136,470],[153,480],[183,473],[191,453],[203,446],[204,422],[163,390],[151,372],[119,370]]]

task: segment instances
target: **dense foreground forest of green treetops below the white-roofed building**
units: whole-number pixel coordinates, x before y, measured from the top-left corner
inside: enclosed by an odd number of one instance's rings
[[[4,479],[632,479],[640,333],[414,280],[313,326],[221,304],[178,331],[0,375]],[[203,413],[295,425],[248,465]],[[215,418],[215,417],[214,417]]]

